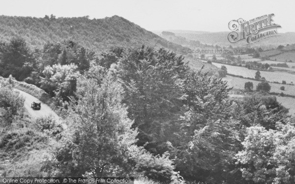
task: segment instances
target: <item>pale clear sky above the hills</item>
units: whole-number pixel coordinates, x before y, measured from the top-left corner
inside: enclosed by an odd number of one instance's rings
[[[295,32],[295,0],[1,0],[0,15],[121,16],[147,30],[230,31],[232,20],[274,13],[279,32]]]

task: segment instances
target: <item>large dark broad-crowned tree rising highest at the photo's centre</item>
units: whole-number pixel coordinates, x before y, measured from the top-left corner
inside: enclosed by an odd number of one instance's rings
[[[127,50],[114,69],[123,82],[123,102],[128,115],[139,128],[138,145],[154,154],[168,150],[167,140],[174,137],[181,109],[181,83],[189,71],[183,57],[164,49]]]

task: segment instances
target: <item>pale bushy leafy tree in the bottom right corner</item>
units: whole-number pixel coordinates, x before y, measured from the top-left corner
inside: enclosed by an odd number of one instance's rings
[[[253,183],[292,184],[295,171],[295,128],[278,122],[276,130],[247,128],[243,150],[236,154],[242,176]]]

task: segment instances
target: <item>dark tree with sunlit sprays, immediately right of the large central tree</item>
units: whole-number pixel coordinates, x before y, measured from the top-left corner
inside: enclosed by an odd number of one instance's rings
[[[237,133],[236,122],[225,120],[230,116],[230,89],[225,81],[193,72],[188,74],[182,90],[186,108],[170,148],[176,168],[190,181],[222,183],[222,176],[231,175],[227,170],[233,151],[233,147],[223,144],[235,144]]]

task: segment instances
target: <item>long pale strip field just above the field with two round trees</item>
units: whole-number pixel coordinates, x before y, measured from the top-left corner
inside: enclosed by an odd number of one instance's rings
[[[255,73],[257,70],[249,70],[244,67],[238,67],[238,66],[231,66],[226,64],[220,64],[220,63],[212,63],[213,65],[217,66],[218,68],[221,68],[222,65],[226,66],[227,71],[229,74],[234,74],[238,76],[243,76],[244,78],[255,78]],[[278,81],[282,82],[282,80],[286,80],[287,83],[295,82],[295,75],[289,74],[289,73],[283,73],[283,72],[265,72],[260,71],[261,77],[265,77],[268,81]]]

